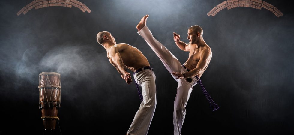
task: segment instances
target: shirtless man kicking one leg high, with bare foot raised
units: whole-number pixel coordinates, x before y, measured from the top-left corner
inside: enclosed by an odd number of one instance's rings
[[[180,35],[173,33],[176,45],[183,51],[190,52],[185,64],[181,64],[165,46],[158,42],[146,26],[149,15],[144,16],[137,25],[138,33],[145,39],[164,66],[178,82],[177,95],[174,102],[173,123],[174,135],[180,135],[186,115],[186,105],[193,86],[206,70],[212,56],[210,47],[205,43],[200,26],[191,26],[188,29],[189,43],[180,41]]]

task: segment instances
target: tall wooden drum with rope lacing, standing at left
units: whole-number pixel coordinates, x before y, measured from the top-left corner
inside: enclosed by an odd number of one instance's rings
[[[61,84],[60,74],[54,72],[42,72],[39,75],[39,107],[45,130],[55,130],[57,113],[60,108]]]

